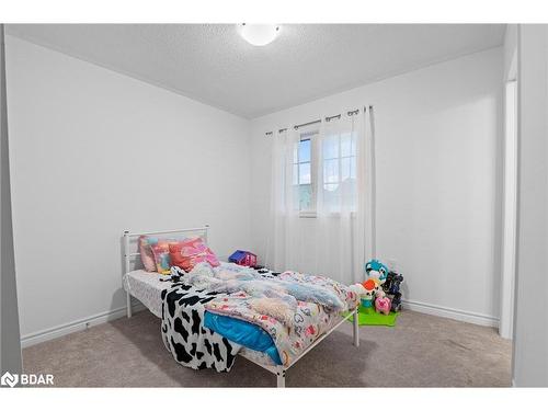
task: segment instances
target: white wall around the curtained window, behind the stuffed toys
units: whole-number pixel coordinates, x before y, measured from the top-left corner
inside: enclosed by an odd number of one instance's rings
[[[503,53],[496,48],[254,119],[254,249],[264,254],[269,235],[272,137],[264,133],[374,104],[378,256],[397,261],[413,308],[494,324],[502,76]]]

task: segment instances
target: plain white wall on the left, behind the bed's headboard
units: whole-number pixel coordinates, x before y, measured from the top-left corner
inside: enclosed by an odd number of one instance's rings
[[[249,248],[248,121],[7,41],[23,339],[125,306],[124,229],[208,222],[219,255]]]

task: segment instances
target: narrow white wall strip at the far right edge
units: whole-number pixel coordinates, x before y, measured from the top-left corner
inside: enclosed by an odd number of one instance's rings
[[[548,25],[520,26],[513,380],[548,386]]]

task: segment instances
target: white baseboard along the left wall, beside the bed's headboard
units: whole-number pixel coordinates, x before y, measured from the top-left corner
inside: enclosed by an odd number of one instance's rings
[[[145,309],[145,306],[140,302],[134,302],[132,305],[134,312]],[[70,334],[76,331],[83,331],[90,327],[103,324],[109,321],[116,320],[126,315],[126,307],[116,308],[110,311],[101,312],[95,316],[88,318],[82,318],[66,324],[57,326],[47,330],[42,330],[34,332],[32,334],[26,334],[21,338],[21,347],[25,349],[27,346],[38,344],[48,340],[54,340],[62,335]]]

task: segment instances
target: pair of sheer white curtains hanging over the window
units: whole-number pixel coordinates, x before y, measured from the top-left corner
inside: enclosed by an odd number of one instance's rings
[[[374,254],[373,117],[341,113],[272,137],[266,264],[351,284]]]

